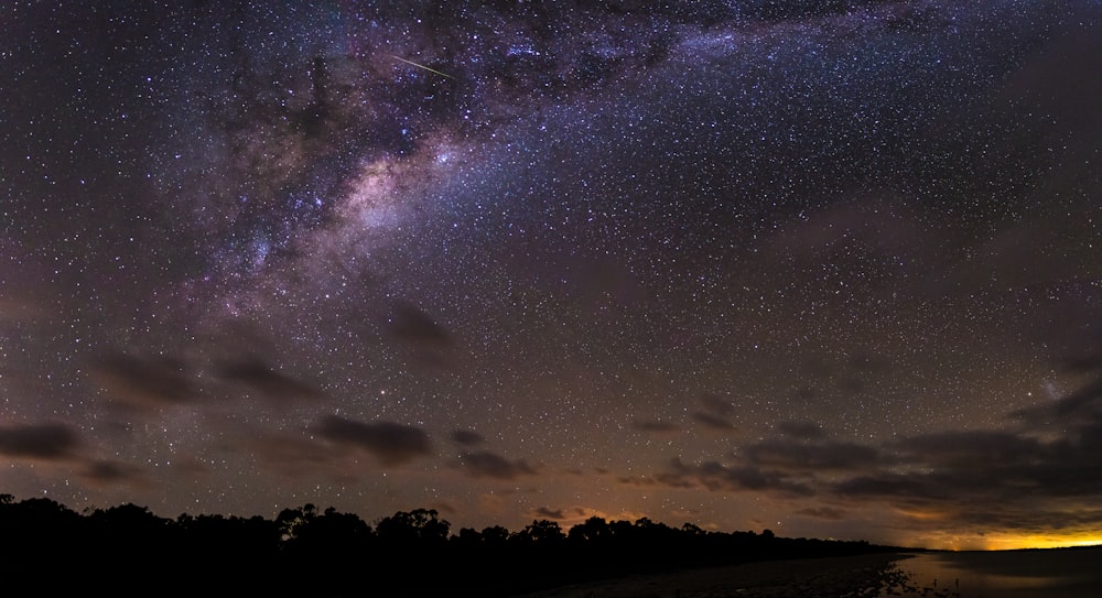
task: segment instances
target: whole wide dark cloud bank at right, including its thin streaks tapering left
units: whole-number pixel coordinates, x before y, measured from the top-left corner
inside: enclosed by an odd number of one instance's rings
[[[777,425],[784,436],[742,447],[735,460],[671,461],[652,478],[622,478],[634,486],[703,487],[777,496],[833,496],[839,505],[799,512],[825,520],[846,510],[889,504],[918,513],[915,526],[959,525],[1044,531],[1102,524],[1102,395],[1090,380],[1061,401],[1034,407],[1009,430],[944,431],[879,444],[825,441],[819,426]],[[1070,404],[1070,407],[1069,407]],[[1074,416],[1069,414],[1074,413]],[[1059,427],[1030,425],[1037,422]],[[905,515],[906,517],[906,515]]]

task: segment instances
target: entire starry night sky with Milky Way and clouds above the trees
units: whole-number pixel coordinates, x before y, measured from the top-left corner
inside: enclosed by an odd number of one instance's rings
[[[1102,541],[1102,3],[7,1],[0,492]]]

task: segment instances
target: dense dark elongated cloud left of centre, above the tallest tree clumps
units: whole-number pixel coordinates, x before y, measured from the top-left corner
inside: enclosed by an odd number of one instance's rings
[[[423,430],[393,422],[366,424],[329,415],[316,430],[329,442],[366,450],[385,466],[432,454],[432,443]]]

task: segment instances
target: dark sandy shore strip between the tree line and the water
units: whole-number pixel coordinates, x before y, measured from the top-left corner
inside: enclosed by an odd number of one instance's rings
[[[868,554],[746,563],[731,567],[634,575],[525,595],[525,598],[850,597],[917,594],[894,562]],[[909,591],[908,591],[909,590]],[[933,594],[929,594],[932,596]]]

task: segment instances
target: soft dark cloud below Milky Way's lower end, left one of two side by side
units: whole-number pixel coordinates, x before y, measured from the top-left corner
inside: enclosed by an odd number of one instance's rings
[[[94,371],[112,400],[131,407],[182,404],[199,398],[190,368],[181,359],[111,355],[100,359]]]

